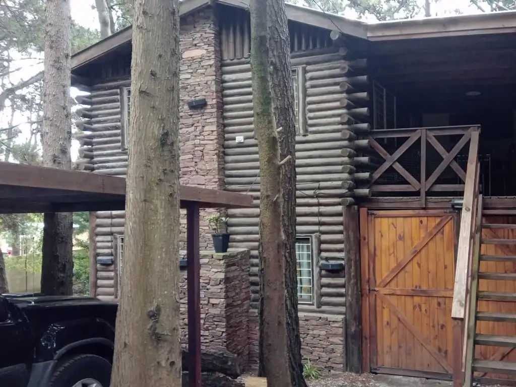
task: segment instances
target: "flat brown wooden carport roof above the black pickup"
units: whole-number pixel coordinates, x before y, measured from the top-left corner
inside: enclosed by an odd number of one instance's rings
[[[125,179],[84,171],[0,163],[0,214],[118,211],[125,208]],[[250,207],[241,193],[180,186],[181,207]]]

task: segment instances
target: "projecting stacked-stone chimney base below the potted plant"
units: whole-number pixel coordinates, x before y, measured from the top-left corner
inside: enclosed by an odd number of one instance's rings
[[[182,271],[182,343],[187,343],[186,270]],[[201,345],[226,349],[249,359],[248,316],[251,293],[249,250],[201,252]]]

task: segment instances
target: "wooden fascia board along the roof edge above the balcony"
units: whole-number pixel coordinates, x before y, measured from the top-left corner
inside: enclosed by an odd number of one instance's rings
[[[367,39],[382,41],[513,32],[516,32],[516,12],[509,11],[369,24]]]

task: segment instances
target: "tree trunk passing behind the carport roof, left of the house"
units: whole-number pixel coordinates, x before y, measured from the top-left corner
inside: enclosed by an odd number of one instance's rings
[[[47,0],[43,74],[43,166],[71,169],[70,1]],[[41,292],[72,294],[72,214],[44,214]]]

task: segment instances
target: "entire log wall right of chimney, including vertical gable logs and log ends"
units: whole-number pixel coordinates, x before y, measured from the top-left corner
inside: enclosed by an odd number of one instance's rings
[[[242,23],[242,22],[240,22]],[[247,26],[244,23],[244,26]],[[353,197],[368,195],[357,183],[369,173],[356,173],[357,157],[367,142],[359,135],[368,131],[369,110],[365,59],[350,59],[342,44],[332,42],[328,31],[289,26],[292,66],[301,83],[298,92],[299,134],[296,136],[297,234],[314,235],[320,261],[344,262],[342,205]],[[230,247],[251,250],[251,301],[258,299],[258,221],[260,176],[256,140],[253,139],[249,35],[245,28],[222,26],[222,97],[224,118],[224,165],[227,190],[253,196],[253,208],[231,209]],[[235,31],[243,31],[237,38]],[[238,142],[237,142],[238,140]],[[314,305],[300,310],[343,314],[344,271],[313,267]]]

